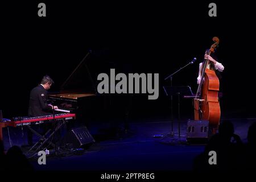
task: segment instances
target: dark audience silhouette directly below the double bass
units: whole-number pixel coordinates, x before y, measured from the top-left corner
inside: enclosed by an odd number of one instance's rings
[[[197,156],[194,161],[195,170],[232,170],[242,168],[243,143],[241,138],[234,134],[234,126],[230,121],[224,121],[205,146],[203,154]],[[217,164],[210,165],[209,152],[215,151]]]

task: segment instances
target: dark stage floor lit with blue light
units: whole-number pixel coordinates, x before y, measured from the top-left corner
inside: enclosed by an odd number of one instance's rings
[[[235,133],[240,135],[243,142],[247,142],[247,130],[253,118],[229,119],[234,124]],[[54,171],[166,171],[192,169],[193,160],[203,152],[204,144],[186,143],[187,121],[180,121],[180,139],[178,135],[177,121],[174,122],[174,137],[168,137],[171,133],[171,122],[158,119],[144,119],[129,123],[129,130],[125,132],[123,124],[118,125],[119,132],[111,135],[109,130],[113,123],[93,123],[88,127],[90,134],[96,142],[81,154],[74,152],[67,155],[49,155],[47,164],[38,164],[38,155],[30,158],[35,170]],[[20,129],[7,129],[4,133],[5,149],[12,146],[26,144],[26,133]],[[9,141],[9,134],[11,143]],[[164,137],[162,137],[164,136]],[[22,147],[26,152],[25,147]],[[50,150],[50,154],[52,154]]]

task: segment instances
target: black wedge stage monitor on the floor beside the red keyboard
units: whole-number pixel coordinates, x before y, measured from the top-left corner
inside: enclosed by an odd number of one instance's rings
[[[69,131],[65,140],[66,144],[72,144],[72,148],[85,148],[95,142],[86,126],[72,129]]]

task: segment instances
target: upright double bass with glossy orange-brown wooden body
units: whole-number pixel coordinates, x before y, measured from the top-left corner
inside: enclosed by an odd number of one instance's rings
[[[213,44],[207,55],[213,53],[218,46],[220,40],[213,38]],[[220,123],[220,102],[218,100],[218,91],[220,89],[220,81],[214,70],[208,69],[209,60],[204,60],[201,69],[201,81],[197,88],[194,98],[194,114],[195,120],[208,120],[209,126],[212,127],[213,133]]]

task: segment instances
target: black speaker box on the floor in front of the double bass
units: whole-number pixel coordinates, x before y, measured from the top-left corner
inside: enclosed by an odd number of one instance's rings
[[[209,133],[209,121],[189,120],[187,123],[188,143],[207,143]]]

